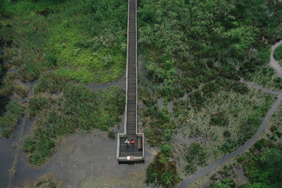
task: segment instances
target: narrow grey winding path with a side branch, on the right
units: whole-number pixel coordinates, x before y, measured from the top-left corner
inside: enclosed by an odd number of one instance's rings
[[[270,57],[269,65],[272,68],[274,68],[276,70],[277,74],[279,75],[279,77],[282,78],[282,68],[278,64],[278,62],[274,59],[274,51],[280,44],[282,44],[282,40],[280,42],[277,42],[273,46],[271,46],[271,57]],[[280,92],[271,91],[269,89],[265,89],[262,86],[253,84],[252,82],[247,82],[246,80],[240,80],[240,81],[247,84],[248,87],[252,87],[252,88],[255,88],[255,89],[261,89],[262,91],[269,92],[271,94],[277,94],[278,99],[271,106],[268,113],[266,113],[266,116],[264,117],[264,120],[262,121],[262,125],[259,126],[259,130],[257,130],[257,132],[249,140],[247,140],[247,142],[243,146],[236,149],[232,153],[228,153],[226,156],[223,156],[223,158],[221,158],[217,161],[214,161],[213,163],[210,163],[209,165],[205,166],[201,170],[198,170],[195,174],[188,177],[188,179],[183,180],[179,184],[178,187],[189,187],[190,184],[192,184],[192,182],[194,182],[198,178],[211,173],[212,170],[214,170],[215,168],[230,162],[236,156],[240,155],[241,153],[244,153],[247,149],[250,148],[250,146],[252,146],[259,139],[259,134],[261,134],[264,130],[266,130],[266,127],[269,123],[269,118],[277,110],[279,104],[281,104],[281,102],[282,102],[282,91],[280,91]]]

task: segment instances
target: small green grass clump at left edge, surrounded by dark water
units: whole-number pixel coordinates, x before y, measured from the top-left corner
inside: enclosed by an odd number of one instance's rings
[[[20,115],[23,114],[23,106],[18,104],[18,102],[10,101],[5,108],[6,113],[0,116],[0,135],[1,137],[11,138],[16,130]]]

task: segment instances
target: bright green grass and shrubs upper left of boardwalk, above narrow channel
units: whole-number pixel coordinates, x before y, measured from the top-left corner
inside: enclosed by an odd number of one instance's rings
[[[125,1],[9,1],[0,19],[5,68],[20,66],[20,79],[46,70],[82,83],[104,83],[123,75]]]

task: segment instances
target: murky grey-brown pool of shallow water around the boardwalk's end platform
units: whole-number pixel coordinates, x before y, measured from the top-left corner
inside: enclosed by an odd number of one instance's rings
[[[131,175],[138,175],[138,184],[145,186],[145,171],[155,151],[145,150],[145,164],[118,165],[116,139],[109,139],[106,132],[94,130],[90,134],[76,132],[61,141],[59,151],[42,168],[27,164],[21,155],[13,184],[23,180],[36,180],[40,175],[55,173],[71,187],[115,187],[137,183]],[[147,149],[147,146],[146,146]]]

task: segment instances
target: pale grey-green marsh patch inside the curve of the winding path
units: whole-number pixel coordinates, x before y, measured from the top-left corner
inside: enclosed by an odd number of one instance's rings
[[[221,90],[200,111],[182,113],[178,120],[183,123],[183,134],[209,141],[204,144],[209,158],[218,158],[255,134],[274,99],[252,89],[247,94]]]

